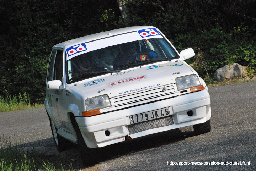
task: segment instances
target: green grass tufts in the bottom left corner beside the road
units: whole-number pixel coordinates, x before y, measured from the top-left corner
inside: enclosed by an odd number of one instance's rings
[[[60,168],[55,168],[46,158],[47,156],[38,153],[35,148],[26,148],[18,143],[12,144],[10,139],[0,137],[1,171],[66,171],[62,165]],[[69,167],[68,170],[73,171],[72,163]]]

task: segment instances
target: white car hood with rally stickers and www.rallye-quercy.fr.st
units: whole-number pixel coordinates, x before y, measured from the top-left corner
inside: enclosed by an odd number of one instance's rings
[[[185,62],[164,61],[86,79],[72,88],[87,98],[103,94],[112,98],[175,83],[175,78],[190,74],[193,71]]]

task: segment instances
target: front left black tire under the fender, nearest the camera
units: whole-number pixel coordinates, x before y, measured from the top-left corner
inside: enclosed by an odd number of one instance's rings
[[[85,144],[84,138],[82,137],[82,133],[78,127],[78,124],[75,120],[74,116],[71,116],[72,125],[76,131],[77,141],[80,148],[80,154],[82,159],[82,164],[85,166],[92,166],[99,162],[99,148],[89,148]]]

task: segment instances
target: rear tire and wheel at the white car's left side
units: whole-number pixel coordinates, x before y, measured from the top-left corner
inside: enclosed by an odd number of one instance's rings
[[[49,120],[50,120],[51,129],[52,129],[54,144],[55,144],[56,148],[58,149],[58,151],[64,151],[64,150],[69,149],[72,145],[72,142],[70,142],[69,140],[60,136],[57,133],[57,128],[55,127],[53,121],[50,118],[49,118]]]

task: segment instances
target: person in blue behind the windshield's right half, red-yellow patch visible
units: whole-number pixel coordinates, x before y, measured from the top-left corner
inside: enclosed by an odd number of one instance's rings
[[[113,61],[114,70],[120,68],[121,65],[128,64],[133,61],[154,59],[158,57],[154,51],[149,49],[144,50],[144,52],[137,53],[136,45],[134,42],[124,43],[119,46],[119,53],[116,59]]]

